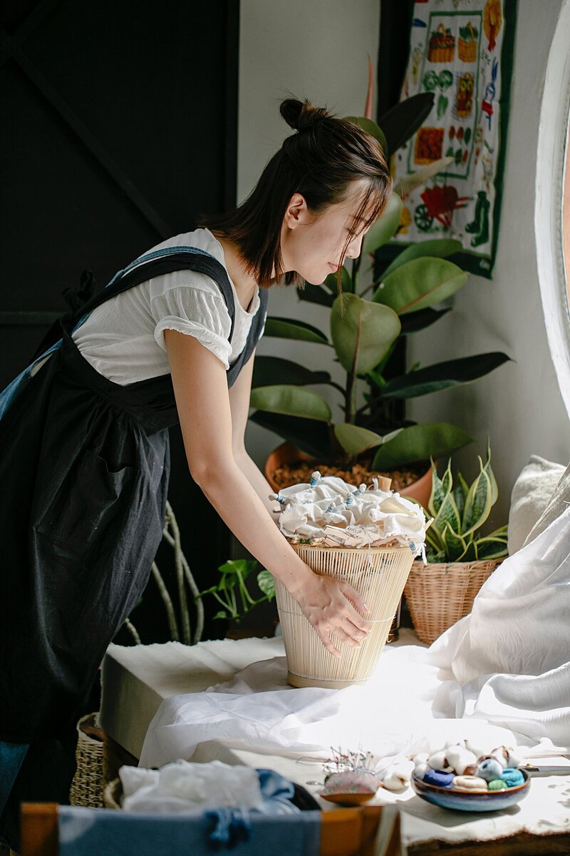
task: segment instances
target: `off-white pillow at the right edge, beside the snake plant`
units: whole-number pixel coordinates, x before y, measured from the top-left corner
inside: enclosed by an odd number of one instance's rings
[[[564,474],[562,464],[545,461],[532,455],[519,478],[514,482],[508,512],[508,555],[523,546],[533,526],[538,522],[556,485]]]

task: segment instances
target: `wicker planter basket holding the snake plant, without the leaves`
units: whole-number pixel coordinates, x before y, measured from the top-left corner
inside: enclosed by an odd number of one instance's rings
[[[473,600],[501,559],[487,562],[414,562],[404,594],[415,632],[431,645],[471,612]]]

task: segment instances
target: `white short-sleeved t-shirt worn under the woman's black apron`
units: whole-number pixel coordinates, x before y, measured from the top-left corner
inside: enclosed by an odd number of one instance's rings
[[[226,267],[224,251],[209,229],[176,235],[152,249],[183,246],[205,250]],[[246,311],[230,282],[235,303],[231,342],[231,319],[220,288],[193,270],[156,276],[107,300],[75,330],[73,341],[97,372],[121,386],[170,371],[164,330],[195,336],[227,369],[244,350],[260,306],[259,289]]]

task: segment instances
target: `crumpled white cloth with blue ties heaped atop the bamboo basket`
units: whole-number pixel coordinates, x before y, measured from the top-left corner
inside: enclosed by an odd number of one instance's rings
[[[279,528],[286,538],[326,538],[326,527],[339,527],[350,536],[347,546],[374,546],[394,538],[414,544],[416,553],[426,539],[426,519],[420,506],[391,491],[355,488],[336,476],[314,473],[311,484],[292,484],[275,495],[283,504]]]

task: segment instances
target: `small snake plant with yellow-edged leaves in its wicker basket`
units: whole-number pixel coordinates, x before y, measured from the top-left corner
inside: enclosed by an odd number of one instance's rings
[[[507,555],[507,526],[483,535],[480,530],[497,502],[497,481],[487,446],[485,464],[467,484],[457,473],[455,484],[448,462],[442,479],[432,466],[432,491],[424,508],[426,559],[414,562],[404,589],[415,632],[430,644],[471,612],[473,599],[485,580]]]

